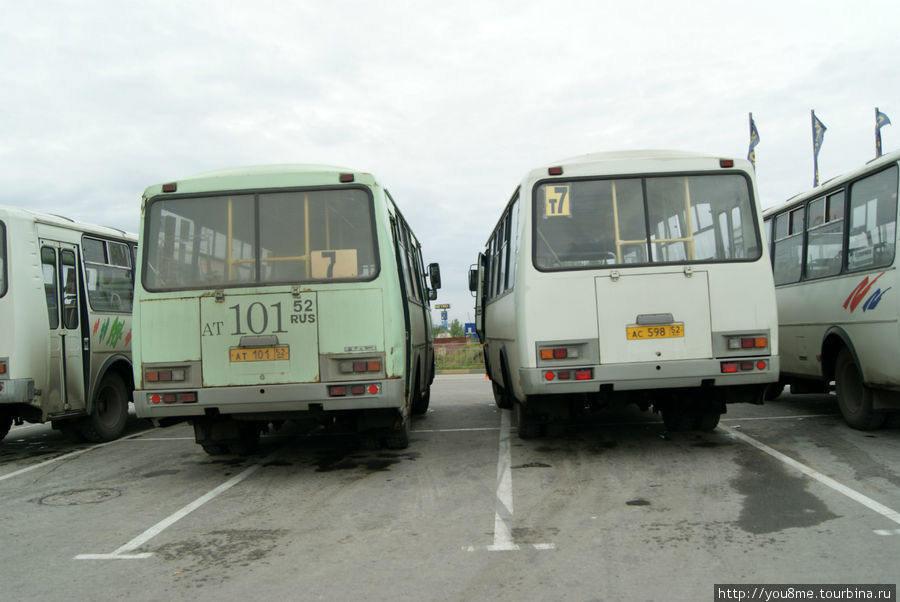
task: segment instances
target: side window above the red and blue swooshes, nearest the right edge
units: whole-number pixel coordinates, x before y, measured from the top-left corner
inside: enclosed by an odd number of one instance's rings
[[[847,268],[867,270],[890,265],[894,260],[896,224],[896,166],[853,184]]]

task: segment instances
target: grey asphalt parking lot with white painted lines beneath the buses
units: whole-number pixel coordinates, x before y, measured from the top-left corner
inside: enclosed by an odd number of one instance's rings
[[[483,375],[439,375],[402,451],[291,424],[206,455],[132,417],[114,442],[0,443],[6,600],[704,600],[719,583],[897,583],[900,426],[831,396],[712,433],[636,408],[520,440]]]

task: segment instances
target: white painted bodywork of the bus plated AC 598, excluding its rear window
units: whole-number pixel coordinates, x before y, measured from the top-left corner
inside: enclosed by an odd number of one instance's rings
[[[719,401],[761,402],[762,389],[776,380],[779,370],[772,275],[760,241],[761,218],[749,163],[726,164],[731,167],[722,167],[717,157],[674,151],[603,153],[554,163],[526,176],[504,213],[518,217],[514,228],[509,224],[514,266],[508,268],[507,278],[513,282],[500,294],[480,296],[488,297],[480,326],[499,400],[510,395],[512,399],[503,402],[512,405],[514,400],[519,410],[540,399],[547,415],[583,399],[653,404],[677,414],[679,403],[689,403],[685,395],[709,397],[712,391],[715,407],[722,411]],[[561,168],[561,175],[549,175],[550,167]],[[747,182],[753,227],[746,231],[755,237],[747,241],[747,258],[634,265],[620,255],[610,258],[615,265],[609,267],[536,266],[535,245],[541,244],[541,234],[535,234],[534,221],[568,219],[537,214],[540,204],[534,195],[541,186],[678,174],[730,174]],[[628,244],[619,241],[619,253]],[[556,259],[565,263],[562,254]],[[482,272],[492,269],[489,261],[480,263]],[[486,280],[491,279],[489,274]],[[679,336],[629,340],[627,333],[647,332],[627,330],[642,324],[681,325],[681,330]],[[729,349],[728,340],[735,336],[764,338],[767,343],[749,353]],[[542,359],[541,350],[548,348],[567,349],[569,357]],[[744,365],[726,373],[725,363],[730,370],[734,362]],[[561,372],[567,378],[560,378]]]

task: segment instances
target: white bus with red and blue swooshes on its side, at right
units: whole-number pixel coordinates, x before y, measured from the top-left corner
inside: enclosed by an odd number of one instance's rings
[[[900,152],[765,212],[782,385],[825,392],[857,429],[900,410],[897,191]]]

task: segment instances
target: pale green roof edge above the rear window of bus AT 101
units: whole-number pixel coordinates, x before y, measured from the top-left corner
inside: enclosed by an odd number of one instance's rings
[[[375,177],[349,167],[285,163],[276,165],[251,165],[207,171],[166,184],[149,186],[144,198],[163,193],[163,186],[175,185],[172,192],[192,193],[215,190],[252,190],[260,188],[292,188],[302,186],[327,186],[341,183],[341,174],[352,174],[353,182],[376,185]]]

